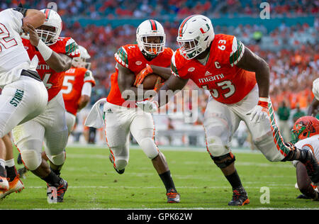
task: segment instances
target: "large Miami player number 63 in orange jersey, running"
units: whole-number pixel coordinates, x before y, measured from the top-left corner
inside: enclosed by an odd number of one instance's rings
[[[319,182],[319,167],[308,150],[285,144],[274,119],[269,99],[269,65],[233,35],[217,34],[206,16],[193,15],[179,26],[179,49],[172,57],[172,77],[153,101],[138,102],[144,111],[157,111],[167,103],[167,90],[183,89],[189,79],[207,89],[211,96],[204,115],[206,145],[213,162],[221,169],[233,188],[229,206],[249,203],[235,169],[235,156],[229,143],[244,121],[254,145],[269,161],[299,160],[311,164],[307,169],[313,182]],[[172,92],[171,91],[171,92]],[[160,97],[160,95],[165,97]],[[161,101],[160,99],[166,99]]]

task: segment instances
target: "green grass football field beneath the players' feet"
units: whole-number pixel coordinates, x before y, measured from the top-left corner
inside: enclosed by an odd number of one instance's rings
[[[108,149],[68,147],[62,177],[69,183],[65,201],[48,204],[45,182],[28,172],[25,189],[0,201],[0,209],[315,209],[319,201],[296,199],[296,171],[290,162],[268,162],[259,153],[235,152],[236,167],[250,204],[229,207],[228,181],[203,150],[163,150],[181,203],[167,204],[164,185],[142,150],[130,150],[123,175],[108,160]],[[21,165],[17,165],[21,167]],[[262,187],[269,203],[262,203]]]

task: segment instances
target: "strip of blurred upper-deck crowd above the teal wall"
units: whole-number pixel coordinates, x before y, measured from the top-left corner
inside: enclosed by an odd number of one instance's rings
[[[19,2],[27,7],[44,9],[47,0],[2,0],[0,9],[16,6]],[[62,16],[85,16],[87,18],[159,17],[176,15],[183,18],[189,14],[205,13],[206,16],[258,16],[262,0],[55,0]],[[316,14],[319,1],[268,0],[272,16]]]

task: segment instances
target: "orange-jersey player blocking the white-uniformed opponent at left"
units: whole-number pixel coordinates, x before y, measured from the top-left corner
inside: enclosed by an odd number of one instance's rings
[[[60,91],[61,72],[71,67],[72,57],[79,57],[79,50],[72,38],[60,37],[62,20],[59,14],[52,9],[41,11],[45,13],[45,23],[36,30],[28,26],[30,40],[24,39],[23,45],[30,58],[35,55],[39,58],[37,71],[47,88],[48,103],[40,116],[13,129],[13,140],[25,167],[47,183],[47,202],[59,203],[68,186],[60,177],[68,136],[65,103]],[[41,157],[43,141],[50,166]]]

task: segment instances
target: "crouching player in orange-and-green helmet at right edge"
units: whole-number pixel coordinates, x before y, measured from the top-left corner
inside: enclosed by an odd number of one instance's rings
[[[293,140],[296,147],[308,150],[319,159],[319,120],[312,116],[303,116],[299,118],[293,125],[291,130]],[[319,200],[319,193],[315,191],[314,186],[308,177],[304,164],[298,160],[291,162],[296,167],[297,185],[301,195],[297,198],[312,198],[314,201]]]

